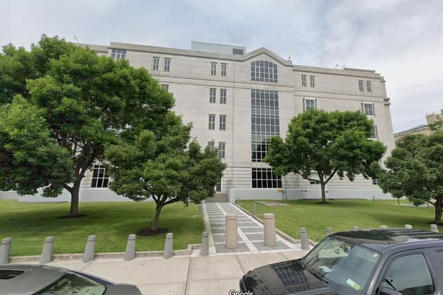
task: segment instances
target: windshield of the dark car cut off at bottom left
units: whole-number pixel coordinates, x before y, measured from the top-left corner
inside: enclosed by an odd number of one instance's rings
[[[102,295],[105,291],[104,285],[79,274],[67,272],[35,295]]]

